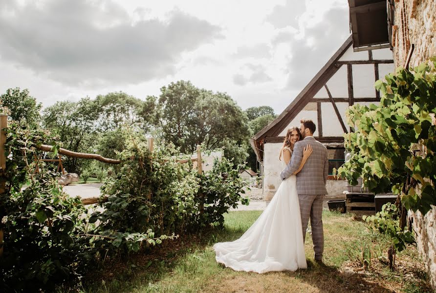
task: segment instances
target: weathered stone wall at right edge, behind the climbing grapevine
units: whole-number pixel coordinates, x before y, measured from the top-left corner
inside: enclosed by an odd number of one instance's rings
[[[414,51],[409,67],[436,56],[436,1],[400,0],[395,3],[394,24],[398,29],[392,35],[396,66],[404,66],[409,49]],[[431,284],[436,290],[436,208],[425,217],[420,212],[410,213],[414,219],[414,231],[418,251],[429,272]]]

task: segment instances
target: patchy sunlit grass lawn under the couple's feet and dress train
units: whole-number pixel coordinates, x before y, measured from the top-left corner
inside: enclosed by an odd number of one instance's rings
[[[396,257],[391,272],[384,262],[388,243],[349,214],[325,211],[324,262],[313,261],[310,235],[306,237],[307,270],[296,272],[234,272],[215,261],[212,245],[239,238],[261,211],[233,211],[225,215],[225,229],[186,235],[150,254],[109,260],[92,272],[80,289],[59,292],[431,292],[414,247]],[[362,268],[362,249],[371,249],[371,263]]]

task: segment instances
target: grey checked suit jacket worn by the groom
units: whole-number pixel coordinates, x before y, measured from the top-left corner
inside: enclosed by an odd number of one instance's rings
[[[297,174],[297,192],[298,194],[309,195],[327,194],[327,147],[313,137],[306,137],[304,140],[295,143],[291,161],[284,168],[280,177],[285,180],[298,170],[306,145],[312,146],[313,152],[307,159],[305,166]]]

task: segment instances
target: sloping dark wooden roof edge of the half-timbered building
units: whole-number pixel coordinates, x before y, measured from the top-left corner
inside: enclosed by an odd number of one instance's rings
[[[252,138],[253,141],[259,141],[265,137],[277,136],[283,129],[294,119],[298,113],[309,103],[313,96],[327,83],[339,67],[336,62],[344,55],[347,49],[352,44],[352,36],[349,36],[347,41],[334,53],[328,60],[326,65],[315,75],[315,77],[305,86],[305,88],[298,94],[298,96],[288,105],[282,114],[280,114],[274,121],[265,126],[261,131],[256,133]],[[259,156],[258,156],[259,157]]]

